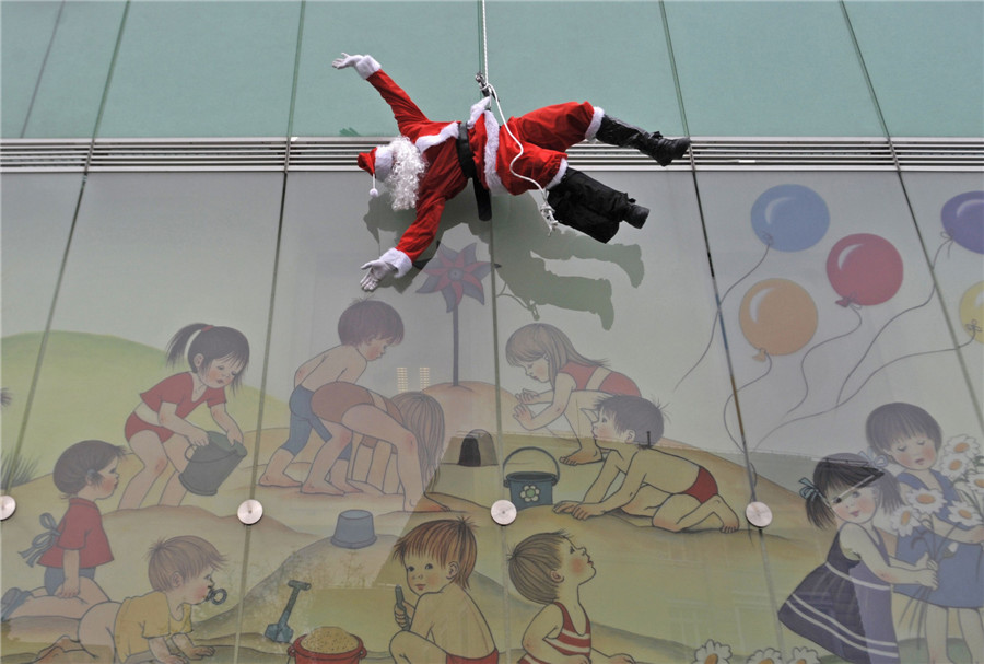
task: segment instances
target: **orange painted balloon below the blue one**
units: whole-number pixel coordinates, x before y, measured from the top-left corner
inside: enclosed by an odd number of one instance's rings
[[[748,289],[738,314],[741,331],[765,354],[794,353],[817,331],[817,305],[801,286],[788,279],[765,279]]]

